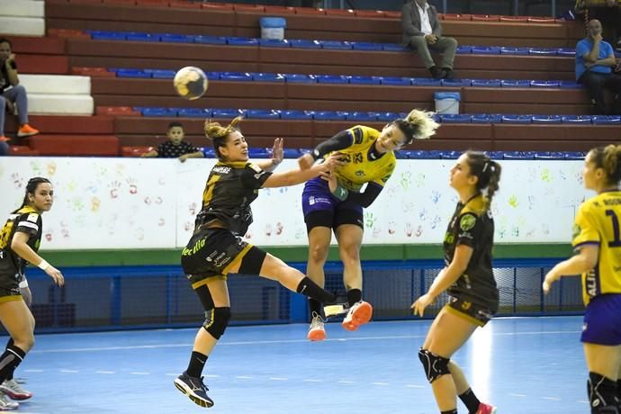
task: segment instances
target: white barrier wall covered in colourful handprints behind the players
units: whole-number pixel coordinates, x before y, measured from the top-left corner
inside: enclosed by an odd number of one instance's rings
[[[182,247],[201,209],[212,159],[0,157],[2,220],[23,200],[31,176],[54,185],[55,203],[43,215],[46,249]],[[451,217],[448,185],[454,160],[400,160],[374,204],[365,210],[365,244],[439,243]],[[496,241],[571,240],[580,203],[582,161],[503,161],[494,199]],[[278,170],[296,168],[285,160]],[[303,185],[264,189],[253,205],[247,237],[258,246],[307,244]]]

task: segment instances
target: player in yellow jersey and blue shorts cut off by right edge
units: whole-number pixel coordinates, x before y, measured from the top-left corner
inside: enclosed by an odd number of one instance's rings
[[[621,400],[621,145],[593,148],[585,157],[584,186],[598,193],[583,202],[573,227],[575,256],[545,275],[544,292],[565,275],[580,275],[584,314],[581,341],[589,367],[591,413],[617,414]]]

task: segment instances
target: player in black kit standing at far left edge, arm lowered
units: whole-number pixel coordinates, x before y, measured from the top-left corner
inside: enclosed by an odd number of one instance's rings
[[[59,286],[65,283],[60,271],[39,256],[41,214],[51,209],[54,192],[47,178],[34,177],[26,184],[22,205],[9,215],[0,229],[0,320],[11,338],[0,356],[0,410],[14,410],[12,399],[31,398],[13,379],[18,365],[34,344],[34,318],[23,300],[21,282],[27,264],[36,264]],[[27,284],[26,284],[27,286]]]

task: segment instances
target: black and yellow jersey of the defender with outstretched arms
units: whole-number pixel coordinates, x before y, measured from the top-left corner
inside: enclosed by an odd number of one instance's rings
[[[250,162],[218,162],[202,193],[202,209],[196,216],[195,229],[218,220],[236,235],[246,234],[252,223],[250,203],[272,173]]]

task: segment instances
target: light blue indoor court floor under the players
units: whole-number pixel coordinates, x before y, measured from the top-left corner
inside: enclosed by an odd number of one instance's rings
[[[229,328],[205,370],[209,410],[173,385],[195,329],[40,335],[16,373],[34,397],[16,412],[434,414],[417,356],[429,324],[331,323],[323,343],[302,324]],[[580,331],[581,317],[499,318],[454,359],[499,414],[587,413]]]

